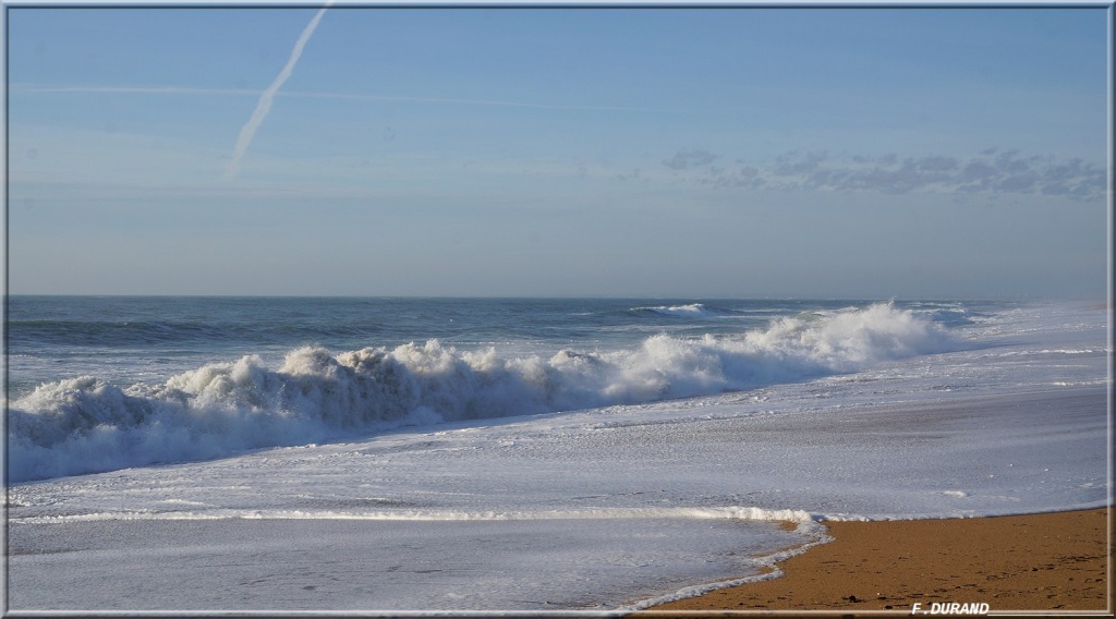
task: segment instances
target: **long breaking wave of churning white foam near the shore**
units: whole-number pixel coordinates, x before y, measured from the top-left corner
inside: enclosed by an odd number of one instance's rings
[[[686,306],[689,307],[689,306]],[[667,308],[670,309],[670,308]],[[209,364],[162,385],[83,376],[10,403],[15,482],[208,460],[404,425],[639,404],[857,371],[958,348],[941,327],[881,303],[733,337],[647,338],[637,348],[550,358],[460,351],[437,340],[394,349],[290,351]]]

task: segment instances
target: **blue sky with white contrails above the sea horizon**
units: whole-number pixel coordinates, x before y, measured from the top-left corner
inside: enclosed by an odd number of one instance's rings
[[[1105,8],[6,10],[12,293],[1106,294]]]

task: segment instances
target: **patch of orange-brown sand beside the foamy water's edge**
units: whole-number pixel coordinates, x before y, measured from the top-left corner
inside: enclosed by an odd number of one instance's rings
[[[650,611],[811,610],[910,616],[932,602],[991,612],[1112,612],[1107,510],[1021,516],[826,522],[833,542],[792,557],[780,578]],[[725,615],[713,612],[712,615]]]

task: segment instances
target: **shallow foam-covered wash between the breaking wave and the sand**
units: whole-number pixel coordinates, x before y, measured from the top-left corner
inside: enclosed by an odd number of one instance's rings
[[[1103,427],[1104,410],[1097,408],[1103,402],[1099,389],[1078,388],[1045,398],[924,403],[913,410],[843,408],[838,418],[802,412],[679,419],[676,409],[667,412],[673,406],[655,405],[632,412],[633,425],[617,423],[619,412],[521,417],[504,426],[460,424],[357,444],[19,484],[10,489],[9,510],[13,608],[626,612],[664,594],[723,587],[734,573],[742,574],[741,582],[772,578],[764,573],[769,568],[790,573],[790,561],[804,550],[801,555],[809,557],[829,545],[817,544],[827,529],[838,531],[841,520],[973,509],[991,515],[1094,503],[1103,489],[1093,482],[1049,487],[1041,470],[1018,458],[1033,457],[1026,445],[1041,441],[1051,456],[1042,464],[1072,465],[1072,458],[1093,451],[1091,428]],[[1054,410],[1064,414],[1054,418]],[[670,418],[656,420],[656,412]],[[992,419],[1010,423],[993,434],[965,436]],[[1055,433],[1061,438],[1051,441],[1051,433],[1036,427],[1042,420],[1069,433]],[[930,432],[952,438],[916,457],[903,451],[889,456],[913,457],[903,471],[921,471],[924,478],[888,476],[878,487],[857,478],[841,485],[841,468],[863,468],[857,454],[888,445],[866,434],[881,424],[897,437]],[[812,432],[804,432],[807,427]],[[642,438],[632,443],[634,449],[603,449],[626,436]],[[776,487],[753,485],[757,492],[749,495],[764,507],[709,506],[728,496],[711,491],[723,493],[749,476],[764,478],[761,460],[723,472],[712,463],[724,462],[724,454],[751,453],[777,436],[788,462],[820,467],[771,468],[783,481]],[[1002,444],[989,444],[993,436]],[[819,451],[819,438],[833,447]],[[969,460],[971,449],[983,455]],[[472,454],[483,468],[469,464]],[[588,454],[596,454],[589,467]],[[692,471],[681,465],[696,454],[705,460]],[[958,457],[964,461],[961,470],[994,471],[995,478],[956,477],[952,463]],[[489,466],[501,462],[530,466]],[[598,480],[593,472],[599,467]],[[1022,476],[1009,477],[1013,472]],[[694,475],[710,484],[695,485]],[[385,477],[396,481],[377,482]],[[517,489],[517,482],[526,485]],[[810,483],[818,484],[817,492]],[[780,492],[796,486],[802,487]],[[958,487],[964,492],[952,490]],[[1032,494],[1039,490],[1042,494]],[[845,500],[856,493],[854,503]],[[556,501],[562,505],[557,511]],[[780,503],[806,509],[773,509]],[[780,520],[796,521],[796,531],[779,533]],[[718,562],[710,563],[714,558]],[[400,567],[411,571],[395,576]],[[609,572],[589,576],[587,567]],[[103,583],[92,598],[77,588],[87,578]],[[680,592],[675,582],[690,584]],[[530,594],[528,584],[536,588]],[[157,594],[134,600],[124,593],[136,587]]]

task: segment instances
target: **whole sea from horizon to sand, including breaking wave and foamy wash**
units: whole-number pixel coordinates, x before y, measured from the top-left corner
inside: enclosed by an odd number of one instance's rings
[[[11,610],[619,612],[1109,503],[1103,302],[8,301]]]

